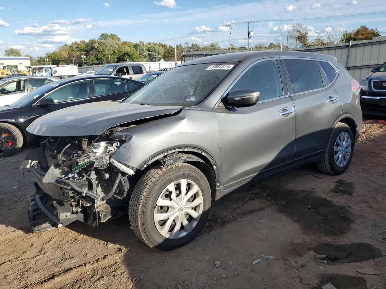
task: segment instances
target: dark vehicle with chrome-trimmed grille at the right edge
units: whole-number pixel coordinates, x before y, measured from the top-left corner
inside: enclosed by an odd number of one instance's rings
[[[386,62],[371,72],[359,81],[362,112],[386,116]]]

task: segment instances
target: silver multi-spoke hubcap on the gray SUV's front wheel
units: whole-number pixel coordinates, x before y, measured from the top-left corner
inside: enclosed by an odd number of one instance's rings
[[[154,207],[154,223],[159,234],[178,239],[189,234],[200,220],[202,193],[195,182],[177,180],[164,188]]]

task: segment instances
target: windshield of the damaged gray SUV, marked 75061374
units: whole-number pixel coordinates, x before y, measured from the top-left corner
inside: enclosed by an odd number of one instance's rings
[[[234,64],[177,66],[161,74],[124,102],[159,106],[194,106],[229,74]]]

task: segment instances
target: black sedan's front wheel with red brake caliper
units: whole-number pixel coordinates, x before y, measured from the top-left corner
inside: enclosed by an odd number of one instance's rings
[[[20,130],[9,123],[0,123],[0,158],[15,155],[23,146]]]

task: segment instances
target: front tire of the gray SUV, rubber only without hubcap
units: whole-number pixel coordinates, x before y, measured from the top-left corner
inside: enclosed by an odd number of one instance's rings
[[[188,176],[188,177],[187,177]],[[158,197],[169,184],[176,180],[189,178],[201,190],[203,210],[193,230],[178,239],[168,239],[161,235],[154,222],[154,210]],[[212,196],[208,180],[195,166],[177,163],[165,168],[155,166],[137,182],[130,197],[129,219],[132,229],[139,239],[149,247],[160,250],[173,250],[193,240],[201,231],[209,216]]]

